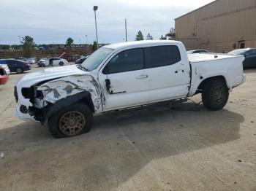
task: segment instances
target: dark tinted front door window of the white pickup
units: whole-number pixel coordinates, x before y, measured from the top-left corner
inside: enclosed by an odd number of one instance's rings
[[[115,55],[108,63],[108,74],[143,69],[143,49],[125,50]]]

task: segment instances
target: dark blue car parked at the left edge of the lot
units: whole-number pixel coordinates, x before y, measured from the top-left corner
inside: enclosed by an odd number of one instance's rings
[[[15,59],[2,59],[0,60],[0,65],[1,64],[7,64],[8,68],[10,69],[10,72],[16,72],[17,74],[21,74],[23,73],[23,71],[31,69],[29,63]]]

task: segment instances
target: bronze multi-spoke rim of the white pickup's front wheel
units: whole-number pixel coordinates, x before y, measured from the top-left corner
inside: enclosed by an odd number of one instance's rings
[[[64,113],[59,120],[59,129],[67,136],[78,135],[85,126],[86,117],[78,111]]]

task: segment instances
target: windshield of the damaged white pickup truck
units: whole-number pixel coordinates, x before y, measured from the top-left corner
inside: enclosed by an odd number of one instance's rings
[[[86,69],[87,71],[92,71],[94,69],[97,69],[100,63],[104,61],[105,58],[112,52],[113,49],[101,47],[99,50],[92,53],[89,58],[86,59],[86,61],[83,61],[82,67],[83,69]]]

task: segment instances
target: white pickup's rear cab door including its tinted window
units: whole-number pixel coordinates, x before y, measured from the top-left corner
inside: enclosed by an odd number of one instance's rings
[[[151,102],[187,96],[189,66],[181,59],[176,45],[146,47],[145,74],[148,75],[148,98]]]

